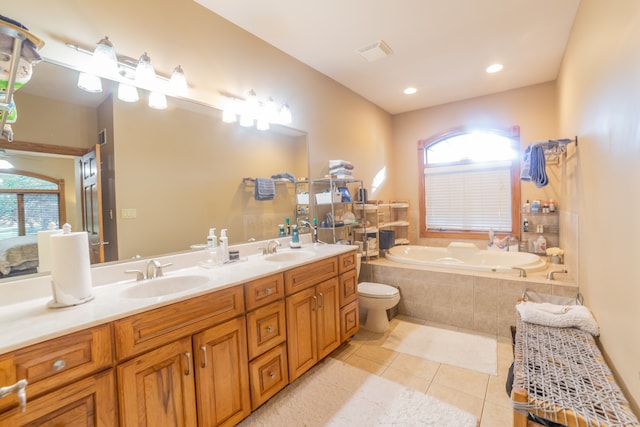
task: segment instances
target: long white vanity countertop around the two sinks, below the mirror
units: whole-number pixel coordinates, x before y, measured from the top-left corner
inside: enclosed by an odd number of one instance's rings
[[[288,239],[283,239],[283,246]],[[286,243],[285,243],[286,242]],[[303,240],[304,242],[304,240]],[[133,286],[153,286],[153,280],[136,282],[135,276],[125,270],[144,270],[147,260],[96,266],[92,270],[94,299],[87,303],[66,307],[48,308],[52,300],[50,275],[24,280],[14,280],[0,285],[0,354],[42,342],[71,332],[121,319],[209,292],[242,284],[284,270],[318,261],[355,249],[355,246],[303,243],[301,250],[313,252],[313,256],[300,261],[267,261],[256,254],[256,248],[264,242],[238,245],[242,261],[202,267],[209,257],[207,250],[156,257],[163,264],[166,277],[179,275],[206,276],[208,282],[198,288],[151,298],[130,298],[123,294]],[[279,249],[278,253],[299,251]]]

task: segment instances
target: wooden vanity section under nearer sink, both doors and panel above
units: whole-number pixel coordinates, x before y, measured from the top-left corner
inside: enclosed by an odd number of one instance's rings
[[[232,426],[251,412],[242,286],[118,320],[115,330],[121,425]]]

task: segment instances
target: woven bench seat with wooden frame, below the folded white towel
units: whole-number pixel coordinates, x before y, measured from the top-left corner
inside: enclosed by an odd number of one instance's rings
[[[516,324],[514,427],[528,414],[568,427],[640,426],[595,339],[576,328]]]

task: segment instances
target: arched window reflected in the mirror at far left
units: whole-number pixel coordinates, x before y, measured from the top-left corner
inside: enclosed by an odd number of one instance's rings
[[[0,239],[37,234],[64,214],[64,180],[18,170],[0,172]]]

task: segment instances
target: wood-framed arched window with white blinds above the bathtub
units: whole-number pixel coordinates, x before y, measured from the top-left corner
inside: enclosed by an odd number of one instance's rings
[[[520,130],[455,129],[418,142],[420,235],[518,232]]]

